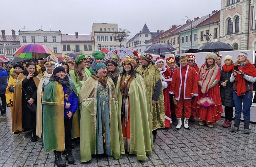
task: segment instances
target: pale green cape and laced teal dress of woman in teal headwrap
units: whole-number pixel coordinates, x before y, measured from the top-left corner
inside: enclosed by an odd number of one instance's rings
[[[106,153],[116,159],[125,154],[115,85],[107,78],[104,87],[99,80],[99,77],[92,75],[80,91],[82,162],[91,160],[93,154]]]

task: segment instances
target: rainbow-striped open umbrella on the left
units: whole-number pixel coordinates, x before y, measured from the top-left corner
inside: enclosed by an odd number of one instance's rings
[[[51,49],[40,44],[29,44],[21,46],[12,54],[14,57],[28,59],[47,58],[50,55],[55,56]]]

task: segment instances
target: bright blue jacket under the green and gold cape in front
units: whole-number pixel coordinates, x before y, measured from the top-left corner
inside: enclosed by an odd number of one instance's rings
[[[64,92],[63,96],[64,96],[67,86],[62,85],[62,87],[63,87],[63,92]],[[64,96],[64,102],[65,102],[64,103],[64,119],[65,119],[65,118],[69,118],[66,112],[71,111],[74,115],[78,108],[78,98],[73,92],[73,90],[72,90],[72,93],[69,95],[68,101],[65,99],[65,96]],[[66,102],[69,102],[71,104],[69,109],[66,108]]]

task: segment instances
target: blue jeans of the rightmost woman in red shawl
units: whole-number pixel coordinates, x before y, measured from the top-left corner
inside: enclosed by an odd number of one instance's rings
[[[246,92],[245,95],[237,96],[236,92],[233,91],[233,99],[235,103],[235,118],[240,119],[242,114],[243,107],[243,115],[244,120],[250,120],[251,118],[251,104],[252,104],[252,92]],[[243,102],[243,105],[242,105]]]

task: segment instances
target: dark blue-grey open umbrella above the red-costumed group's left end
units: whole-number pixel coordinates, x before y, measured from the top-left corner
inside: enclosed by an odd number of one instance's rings
[[[168,45],[168,44],[154,44],[154,45],[151,45],[149,46],[148,48],[146,48],[146,50],[144,50],[143,52],[145,53],[167,53],[167,52],[172,52],[174,50],[177,50],[175,49],[174,47]]]

